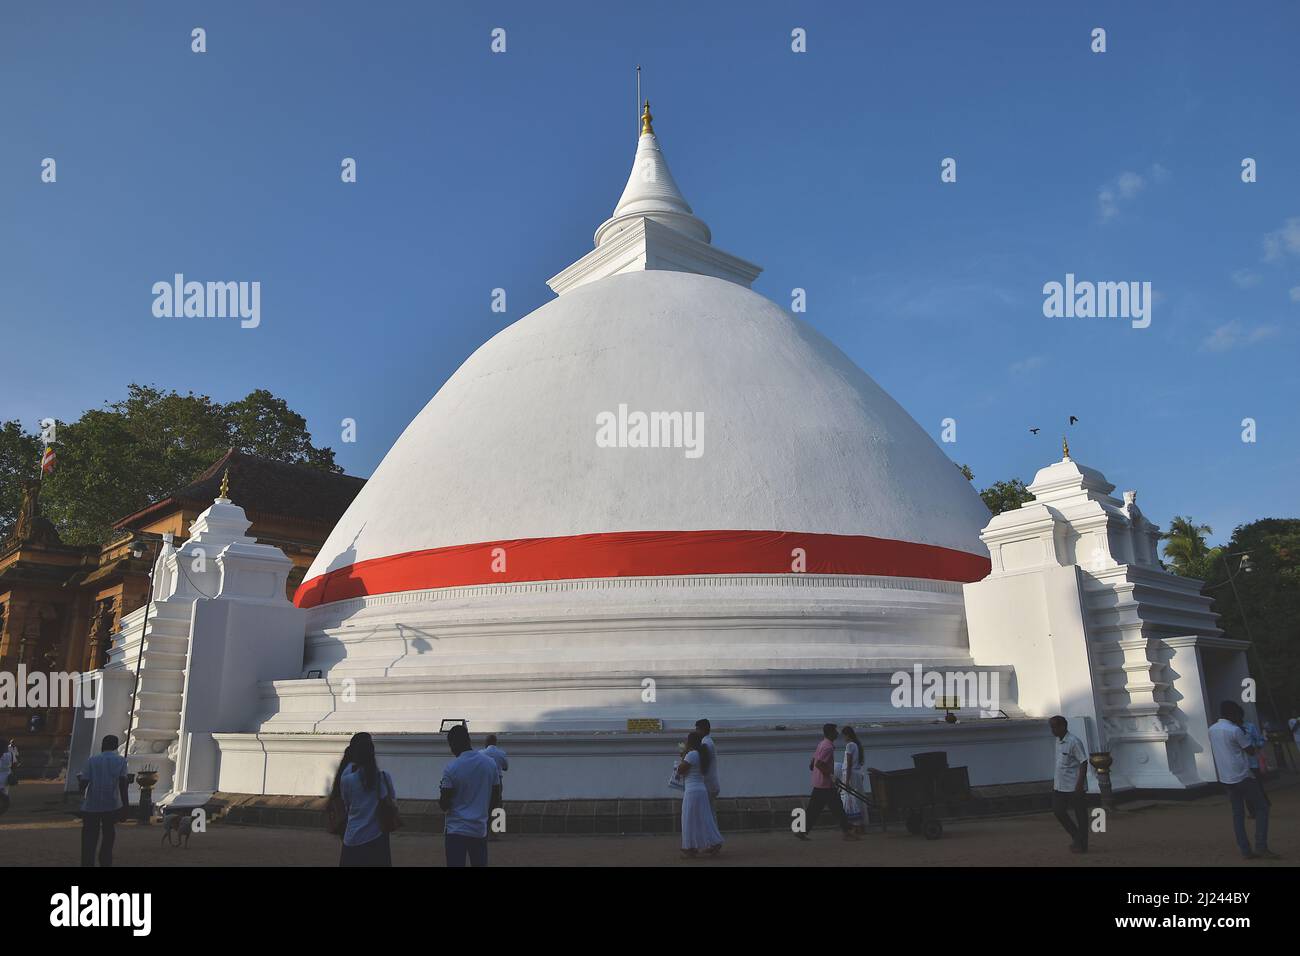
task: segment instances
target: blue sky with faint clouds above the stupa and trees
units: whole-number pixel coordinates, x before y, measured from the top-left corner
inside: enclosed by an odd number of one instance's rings
[[[715,245],[786,307],[806,289],[936,440],[957,419],[978,485],[1032,477],[1078,415],[1074,457],[1162,524],[1300,515],[1300,10],[1134,7],[9,0],[0,418],[269,388],[368,475],[590,248],[640,62]],[[155,317],[176,272],[259,280],[261,325]],[[1044,317],[1067,272],[1150,281],[1150,328]]]

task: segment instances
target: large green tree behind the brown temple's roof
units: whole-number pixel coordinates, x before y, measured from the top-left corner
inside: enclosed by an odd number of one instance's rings
[[[68,544],[103,542],[116,520],[185,486],[228,447],[339,471],[330,449],[312,445],[307,421],[263,389],[221,405],[131,385],[125,399],[57,428],[58,464],[40,501]],[[0,476],[26,454],[20,445],[0,442]]]

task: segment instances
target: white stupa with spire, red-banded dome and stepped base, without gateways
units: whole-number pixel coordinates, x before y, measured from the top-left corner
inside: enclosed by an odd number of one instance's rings
[[[884,713],[871,671],[968,663],[961,585],[988,572],[987,509],[710,238],[647,109],[595,248],[438,390],[307,574],[306,666],[364,702],[322,689],[328,708],[272,724],[820,723],[828,676]],[[629,419],[636,444],[637,412],[673,416],[645,437],[667,447],[608,446]]]

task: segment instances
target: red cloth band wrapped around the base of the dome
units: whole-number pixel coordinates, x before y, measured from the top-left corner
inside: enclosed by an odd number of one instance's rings
[[[797,563],[796,549],[803,551],[802,566]],[[978,581],[988,575],[991,566],[988,558],[950,548],[864,535],[628,531],[485,541],[359,561],[303,581],[294,604],[315,607],[368,594],[473,584],[800,570]]]

